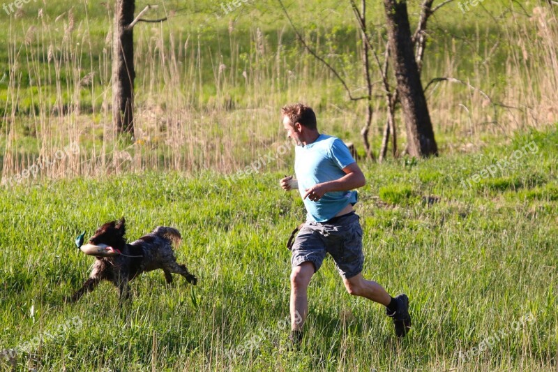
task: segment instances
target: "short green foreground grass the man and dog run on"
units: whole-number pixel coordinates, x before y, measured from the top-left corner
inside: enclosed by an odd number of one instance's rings
[[[539,151],[497,176],[509,182],[462,186],[531,141]],[[327,259],[310,285],[306,338],[297,352],[285,347],[282,322],[289,304],[286,238],[304,216],[299,195],[278,187],[291,166],[273,165],[233,184],[206,170],[1,188],[0,348],[40,340],[20,353],[18,370],[555,370],[556,143],[558,126],[472,154],[363,166],[368,184],[357,211],[364,274],[409,295],[414,327],[398,341],[384,309],[347,295]],[[93,260],[73,239],[120,216],[130,240],[156,225],[179,228],[179,261],[199,285],[176,278],[168,288],[155,271],[132,283],[133,301],[122,307],[109,284],[64,304]],[[527,316],[533,321],[518,323]],[[491,348],[460,359],[495,336]],[[7,359],[0,363],[8,369]]]

